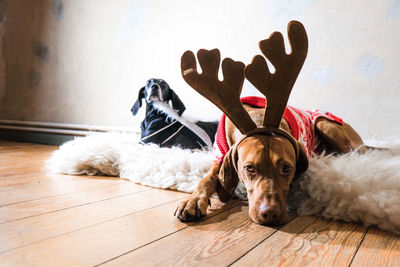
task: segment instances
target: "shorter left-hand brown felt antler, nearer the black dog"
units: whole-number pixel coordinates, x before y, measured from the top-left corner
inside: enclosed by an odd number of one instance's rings
[[[244,81],[244,64],[225,58],[222,61],[224,80],[218,79],[218,69],[221,60],[218,49],[197,52],[202,73],[196,68],[196,58],[192,51],[186,51],[181,58],[183,79],[198,93],[220,108],[235,124],[241,133],[246,133],[256,124],[250,118],[240,102],[240,93]]]

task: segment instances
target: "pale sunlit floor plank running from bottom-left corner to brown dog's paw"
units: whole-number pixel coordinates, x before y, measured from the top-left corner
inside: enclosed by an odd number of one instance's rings
[[[207,219],[237,204],[213,200]],[[187,228],[173,216],[177,205],[175,201],[15,249],[0,254],[0,262],[4,266],[97,265]]]

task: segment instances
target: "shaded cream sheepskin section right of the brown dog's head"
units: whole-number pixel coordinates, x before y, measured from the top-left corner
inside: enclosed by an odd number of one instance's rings
[[[400,233],[400,145],[310,159],[288,202],[300,215],[362,222]]]

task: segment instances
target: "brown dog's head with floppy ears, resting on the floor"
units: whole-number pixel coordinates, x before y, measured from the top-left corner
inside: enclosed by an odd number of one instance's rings
[[[294,139],[252,135],[234,145],[225,156],[218,194],[233,192],[240,180],[247,190],[250,218],[264,225],[282,224],[287,220],[286,197],[290,183],[307,167],[303,146]]]

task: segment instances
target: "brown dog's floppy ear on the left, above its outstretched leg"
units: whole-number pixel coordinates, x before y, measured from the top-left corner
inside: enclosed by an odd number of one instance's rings
[[[239,176],[235,168],[238,160],[236,151],[236,145],[231,147],[231,149],[225,155],[221,168],[219,170],[219,179],[217,180],[217,194],[219,200],[221,200],[222,202],[226,202],[231,198],[239,182]]]

